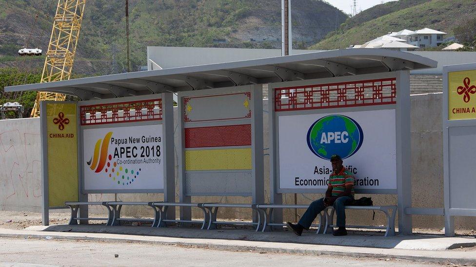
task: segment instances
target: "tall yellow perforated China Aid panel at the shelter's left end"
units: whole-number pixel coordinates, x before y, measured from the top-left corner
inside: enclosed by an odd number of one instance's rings
[[[46,105],[49,207],[78,201],[76,104]]]

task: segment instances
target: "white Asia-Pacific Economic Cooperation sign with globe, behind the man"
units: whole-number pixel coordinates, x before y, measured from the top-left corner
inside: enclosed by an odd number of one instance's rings
[[[356,177],[356,188],[397,188],[394,109],[279,116],[279,187],[326,189],[332,155]]]

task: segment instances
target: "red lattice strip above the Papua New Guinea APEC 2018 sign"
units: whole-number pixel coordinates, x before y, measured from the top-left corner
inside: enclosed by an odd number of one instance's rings
[[[162,99],[81,106],[81,125],[162,120]]]

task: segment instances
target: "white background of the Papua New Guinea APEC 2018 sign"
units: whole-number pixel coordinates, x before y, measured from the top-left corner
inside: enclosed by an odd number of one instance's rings
[[[99,139],[104,139],[108,132],[113,132],[112,139],[116,140],[126,140],[127,143],[120,144],[111,143],[109,141],[108,146],[108,155],[112,155],[112,160],[107,160],[110,162],[110,166],[107,165],[104,169],[95,173],[90,169],[87,161],[91,160],[91,157],[94,154],[94,147],[96,142]],[[142,138],[153,137],[151,140],[142,140]],[[135,143],[130,142],[131,138],[136,140]],[[139,139],[138,139],[139,138]],[[156,142],[160,138],[160,142]],[[146,142],[143,142],[146,141]],[[101,141],[102,144],[102,141]],[[160,146],[160,155],[157,157],[157,146]],[[123,147],[126,149],[130,147],[130,158],[126,158],[126,154],[123,153],[122,157],[115,157],[116,148],[119,149]],[[136,147],[134,157],[132,155],[132,148]],[[142,149],[142,147],[144,147]],[[146,151],[146,147],[149,147]],[[162,125],[142,125],[142,126],[125,126],[125,127],[111,127],[111,128],[100,128],[100,129],[85,129],[83,130],[83,174],[84,174],[84,189],[85,190],[159,190],[163,189],[163,136],[162,136]],[[154,148],[154,151],[152,151]],[[146,153],[148,152],[148,153]],[[147,156],[148,155],[148,156]],[[123,162],[124,160],[137,160],[136,162]],[[142,162],[139,162],[142,161]],[[146,163],[147,161],[153,161],[152,163]],[[155,161],[155,162],[154,162]],[[156,162],[160,161],[160,163]],[[121,163],[114,167],[113,162]],[[115,172],[112,173],[113,167]],[[122,167],[122,170],[119,168]],[[105,169],[108,169],[108,172],[105,172]],[[127,169],[128,173],[125,173]],[[140,171],[139,171],[140,169]],[[134,174],[131,174],[131,171],[134,171]],[[119,177],[117,176],[119,172]],[[139,172],[139,175],[137,175]],[[109,174],[112,174],[112,177],[109,177]],[[124,179],[122,179],[124,175]],[[136,177],[132,182],[133,175]],[[129,177],[129,180],[127,180]],[[113,178],[115,178],[113,180]],[[119,182],[119,183],[118,183]],[[124,183],[124,184],[123,184]],[[129,184],[128,184],[129,183]]]

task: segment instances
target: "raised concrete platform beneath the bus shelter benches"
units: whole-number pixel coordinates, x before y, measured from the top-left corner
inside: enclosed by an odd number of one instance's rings
[[[476,246],[473,237],[442,237],[436,235],[396,235],[384,237],[383,233],[352,233],[347,236],[333,236],[332,234],[316,234],[312,231],[303,232],[296,236],[291,231],[255,232],[248,229],[199,230],[194,228],[151,228],[146,226],[104,226],[104,225],[56,225],[32,226],[25,230],[33,231],[71,231],[91,233],[115,233],[152,235],[184,238],[209,238],[248,241],[272,241],[281,243],[351,246],[380,249],[419,249],[419,250],[446,250]]]

